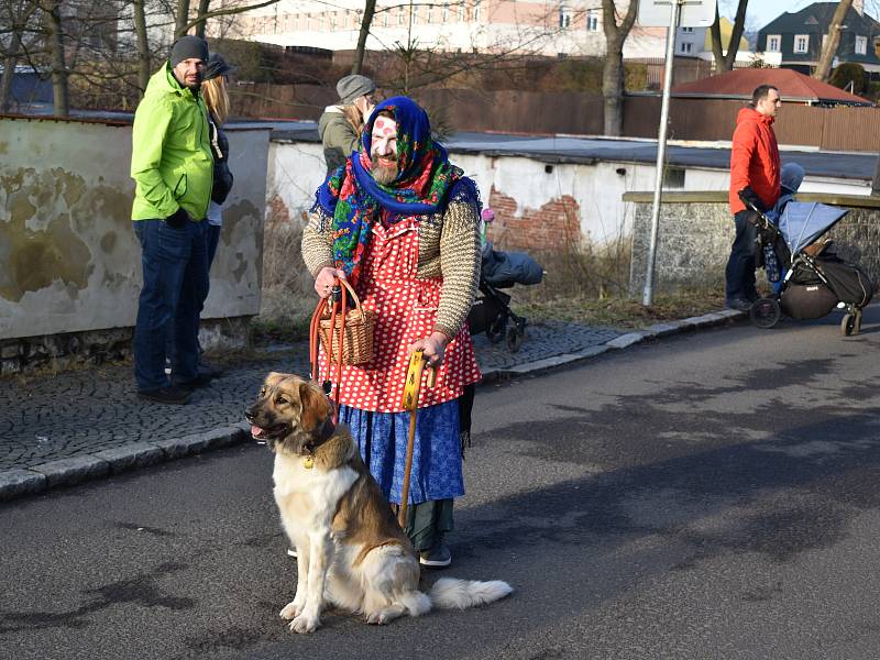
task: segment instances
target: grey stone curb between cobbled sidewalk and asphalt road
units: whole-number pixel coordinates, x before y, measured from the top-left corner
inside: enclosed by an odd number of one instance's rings
[[[483,383],[488,384],[504,377],[538,374],[578,364],[612,350],[626,349],[646,339],[667,337],[702,327],[719,326],[745,316],[743,311],[724,309],[679,321],[657,323],[639,331],[620,334],[604,344],[588,346],[582,351],[535,360],[510,367],[487,370],[483,373]],[[30,470],[0,470],[0,502],[41,493],[56,486],[73,485],[124,471],[138,470],[202,451],[241,444],[249,441],[250,437],[250,426],[242,421],[202,433],[152,442],[133,442],[89,455],[51,461]]]

